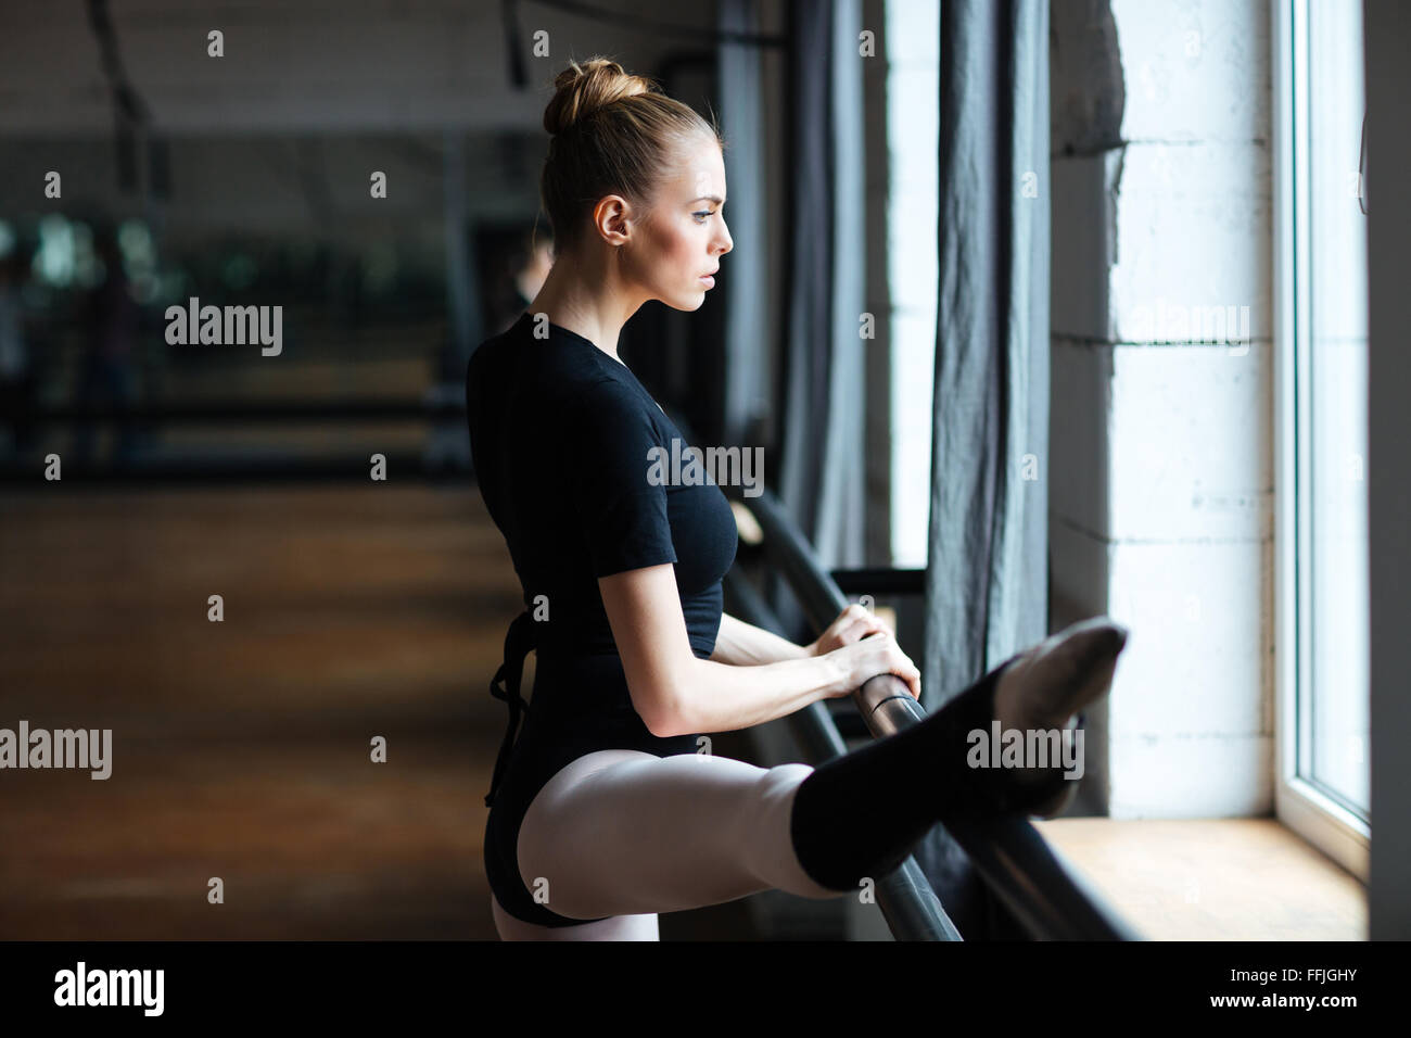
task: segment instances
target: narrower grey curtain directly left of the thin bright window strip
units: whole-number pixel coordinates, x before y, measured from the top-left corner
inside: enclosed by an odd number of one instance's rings
[[[779,494],[824,566],[861,566],[865,370],[858,322],[866,256],[861,0],[796,0],[789,21],[793,237]],[[801,614],[782,582],[772,597],[785,626],[801,633]]]

